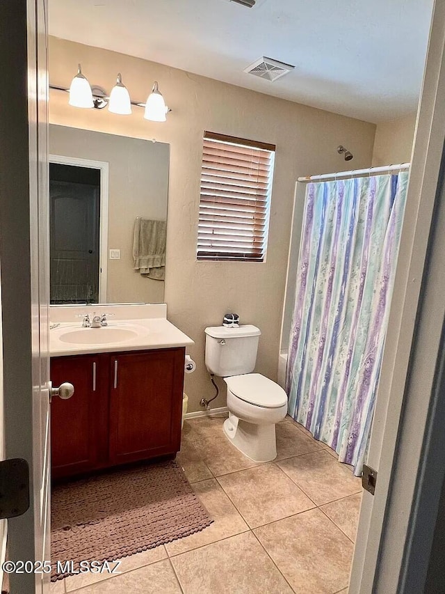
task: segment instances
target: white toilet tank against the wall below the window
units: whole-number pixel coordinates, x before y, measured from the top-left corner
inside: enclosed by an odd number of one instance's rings
[[[206,333],[206,367],[219,377],[252,373],[261,331],[256,326],[212,326]]]

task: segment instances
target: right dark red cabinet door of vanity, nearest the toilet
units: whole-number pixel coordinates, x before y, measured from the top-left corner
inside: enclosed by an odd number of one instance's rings
[[[179,451],[184,356],[176,348],[110,357],[112,463]]]

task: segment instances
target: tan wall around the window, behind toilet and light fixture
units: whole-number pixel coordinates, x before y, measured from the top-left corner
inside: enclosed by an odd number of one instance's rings
[[[227,311],[261,328],[257,371],[276,380],[296,178],[341,169],[339,144],[354,153],[355,169],[370,166],[375,125],[139,58],[50,38],[52,84],[68,86],[78,62],[90,83],[108,92],[122,72],[133,100],[145,101],[153,81],[158,80],[173,110],[168,122],[151,123],[143,119],[142,109],[135,108],[132,116],[75,109],[67,104],[67,95],[53,91],[49,117],[61,125],[170,143],[165,301],[169,320],[195,341],[189,352],[198,368],[186,376],[189,410],[199,410],[200,398],[213,395],[204,366],[204,328],[220,324]],[[277,146],[266,263],[196,261],[204,130]],[[224,382],[220,385],[225,386]],[[223,389],[213,406],[225,405],[224,393]]]

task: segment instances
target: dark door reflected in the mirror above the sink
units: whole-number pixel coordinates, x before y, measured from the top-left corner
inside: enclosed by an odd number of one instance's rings
[[[100,170],[49,164],[51,304],[99,301]]]

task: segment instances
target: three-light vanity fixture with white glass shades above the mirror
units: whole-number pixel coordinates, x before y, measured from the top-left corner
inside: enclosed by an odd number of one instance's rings
[[[144,118],[152,122],[165,122],[167,119],[165,117],[166,114],[172,111],[165,105],[157,81],[154,81],[152,93],[149,94],[146,104],[131,101],[128,89],[122,83],[122,75],[119,72],[116,84],[108,96],[101,87],[90,86],[88,79],[82,73],[80,64],[76,76],[72,79],[70,88],[53,84],[50,84],[49,88],[69,93],[70,99],[68,103],[73,107],[103,109],[108,104],[108,111],[111,111],[112,114],[119,115],[131,114],[131,105],[144,107]]]

